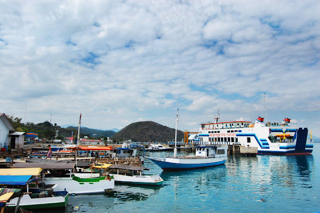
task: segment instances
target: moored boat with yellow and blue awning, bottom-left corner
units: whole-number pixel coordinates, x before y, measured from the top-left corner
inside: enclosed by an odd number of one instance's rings
[[[24,209],[65,208],[69,194],[63,190],[53,192],[57,184],[38,186],[41,168],[1,168],[0,184],[9,187],[26,186],[22,196],[15,197],[6,203],[8,208],[16,206]],[[22,189],[23,190],[23,189]],[[52,192],[52,193],[50,193]]]

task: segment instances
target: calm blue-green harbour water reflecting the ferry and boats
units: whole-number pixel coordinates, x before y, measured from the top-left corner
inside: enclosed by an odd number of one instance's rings
[[[107,194],[75,195],[66,211],[319,211],[319,153],[320,143],[315,143],[312,155],[229,155],[225,165],[170,172],[145,159],[145,166],[161,175],[163,186],[117,185]]]

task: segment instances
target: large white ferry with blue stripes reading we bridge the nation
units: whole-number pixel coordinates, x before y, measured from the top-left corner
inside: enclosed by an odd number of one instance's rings
[[[218,113],[219,115],[219,113]],[[258,154],[310,154],[313,148],[312,136],[308,139],[308,129],[291,123],[289,118],[282,122],[263,122],[257,117],[255,123],[249,121],[201,123],[199,140],[195,144],[238,144],[257,147]]]

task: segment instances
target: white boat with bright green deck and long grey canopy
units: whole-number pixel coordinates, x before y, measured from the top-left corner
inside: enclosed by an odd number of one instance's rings
[[[40,167],[47,172],[42,174],[38,182],[45,184],[57,184],[55,192],[67,190],[69,193],[98,193],[104,189],[114,188],[114,179],[108,179],[106,175],[99,173],[73,173],[75,162],[71,163],[41,163],[21,162],[15,163],[15,168]],[[50,172],[49,172],[50,171]],[[68,176],[66,176],[68,175]]]

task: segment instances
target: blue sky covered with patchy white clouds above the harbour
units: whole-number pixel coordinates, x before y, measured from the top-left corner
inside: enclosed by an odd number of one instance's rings
[[[99,129],[284,117],[320,137],[319,0],[0,0],[0,112]],[[264,102],[265,94],[265,102]],[[266,110],[264,110],[266,105]]]

